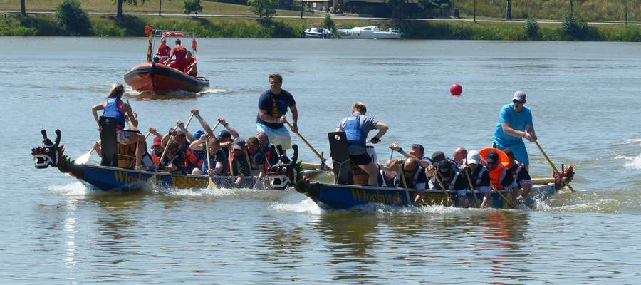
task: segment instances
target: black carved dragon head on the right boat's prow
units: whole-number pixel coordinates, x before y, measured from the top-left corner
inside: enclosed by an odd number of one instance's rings
[[[278,152],[278,163],[267,169],[266,175],[271,189],[284,190],[289,185],[296,185],[301,180],[302,167],[298,162],[298,145],[292,145],[293,156],[291,160],[283,154],[283,147],[276,146]]]

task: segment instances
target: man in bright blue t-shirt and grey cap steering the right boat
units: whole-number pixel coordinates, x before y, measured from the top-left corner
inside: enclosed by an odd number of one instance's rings
[[[528,150],[521,138],[531,142],[536,140],[534,125],[532,123],[532,112],[525,106],[526,93],[516,91],[512,96],[512,103],[506,104],[499,112],[499,123],[496,124],[492,142],[499,150],[509,148],[514,156],[525,165],[530,165]]]

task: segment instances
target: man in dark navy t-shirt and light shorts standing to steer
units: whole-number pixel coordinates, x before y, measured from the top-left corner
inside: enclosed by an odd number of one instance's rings
[[[291,131],[298,132],[298,110],[296,100],[291,93],[281,89],[283,77],[280,74],[269,76],[269,90],[261,94],[259,98],[259,113],[256,116],[256,130],[266,133],[273,145],[282,145],[283,150],[291,148],[291,137],[284,124],[287,121],[285,114],[287,108],[291,110],[293,120]]]

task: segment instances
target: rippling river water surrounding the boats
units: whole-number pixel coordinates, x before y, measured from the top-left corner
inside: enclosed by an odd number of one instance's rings
[[[91,106],[145,58],[145,39],[6,37],[0,46],[1,283],[641,282],[639,43],[203,38],[206,93],[127,92],[143,129],[166,130],[199,108],[246,138],[277,72],[319,151],[328,153],[325,133],[358,100],[390,125],[376,146],[387,157],[391,142],[422,143],[428,155],[487,147],[500,106],[525,90],[541,146],[575,164],[579,191],[530,212],[324,212],[291,191],[96,192],[57,170],[34,170],[28,150],[42,128],[60,128],[71,157],[89,150],[98,138]],[[460,98],[449,95],[454,82]],[[316,160],[294,140],[303,160]],[[527,147],[533,175],[550,176],[536,146]]]

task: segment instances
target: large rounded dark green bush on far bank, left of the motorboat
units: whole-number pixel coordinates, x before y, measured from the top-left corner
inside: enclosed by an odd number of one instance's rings
[[[65,0],[56,9],[58,26],[71,36],[91,36],[93,29],[85,11],[76,0]]]

